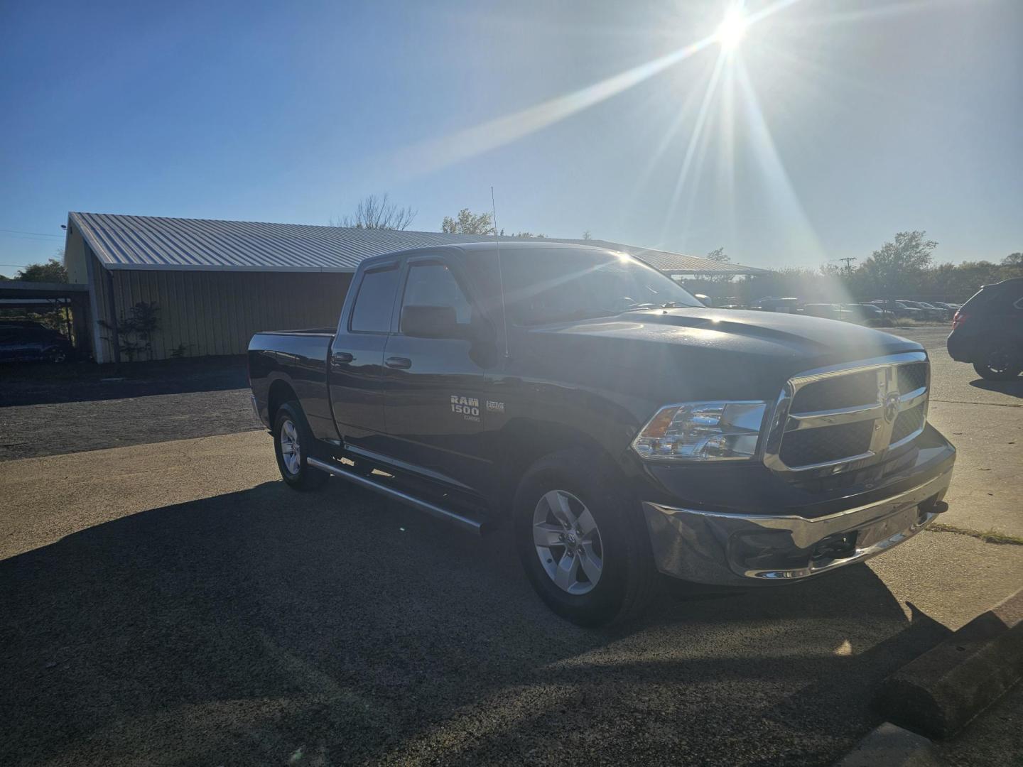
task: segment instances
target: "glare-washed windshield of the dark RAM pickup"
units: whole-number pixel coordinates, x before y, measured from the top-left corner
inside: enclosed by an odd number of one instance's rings
[[[509,319],[540,325],[659,307],[703,307],[656,269],[628,256],[518,251],[502,259]]]

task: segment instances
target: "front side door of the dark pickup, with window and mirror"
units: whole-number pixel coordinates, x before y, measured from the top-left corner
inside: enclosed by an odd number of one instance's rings
[[[479,492],[480,478],[489,475],[480,444],[484,370],[473,339],[482,318],[466,284],[457,265],[444,258],[408,260],[395,332],[384,353],[387,453],[455,488]],[[438,314],[450,324],[428,331],[438,337],[422,337],[416,318]]]

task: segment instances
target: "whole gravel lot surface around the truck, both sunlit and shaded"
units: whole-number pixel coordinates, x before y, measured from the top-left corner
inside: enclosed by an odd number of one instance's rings
[[[932,419],[963,433],[943,518],[1008,527],[1023,380],[974,386],[944,334],[914,331]],[[1020,547],[925,532],[810,583],[664,595],[642,623],[582,630],[502,533],[337,481],[284,488],[265,434],[221,434],[255,424],[243,367],[218,369],[61,402],[4,379],[23,399],[3,441],[16,423],[65,454],[0,463],[0,764],[831,764],[880,723],[884,676],[1023,583]],[[174,439],[204,430],[220,436]],[[946,756],[1014,763],[972,737]]]

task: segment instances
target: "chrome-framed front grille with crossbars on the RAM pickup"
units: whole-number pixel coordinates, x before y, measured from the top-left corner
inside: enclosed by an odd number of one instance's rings
[[[930,366],[923,352],[837,365],[790,378],[764,448],[777,471],[832,475],[883,459],[924,430]]]

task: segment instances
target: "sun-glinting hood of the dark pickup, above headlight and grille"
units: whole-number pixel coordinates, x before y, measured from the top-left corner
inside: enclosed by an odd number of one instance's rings
[[[628,312],[530,332],[546,337],[539,346],[559,366],[574,360],[579,376],[655,397],[665,396],[654,390],[668,380],[686,397],[773,399],[796,373],[923,349],[838,320],[710,308]]]

